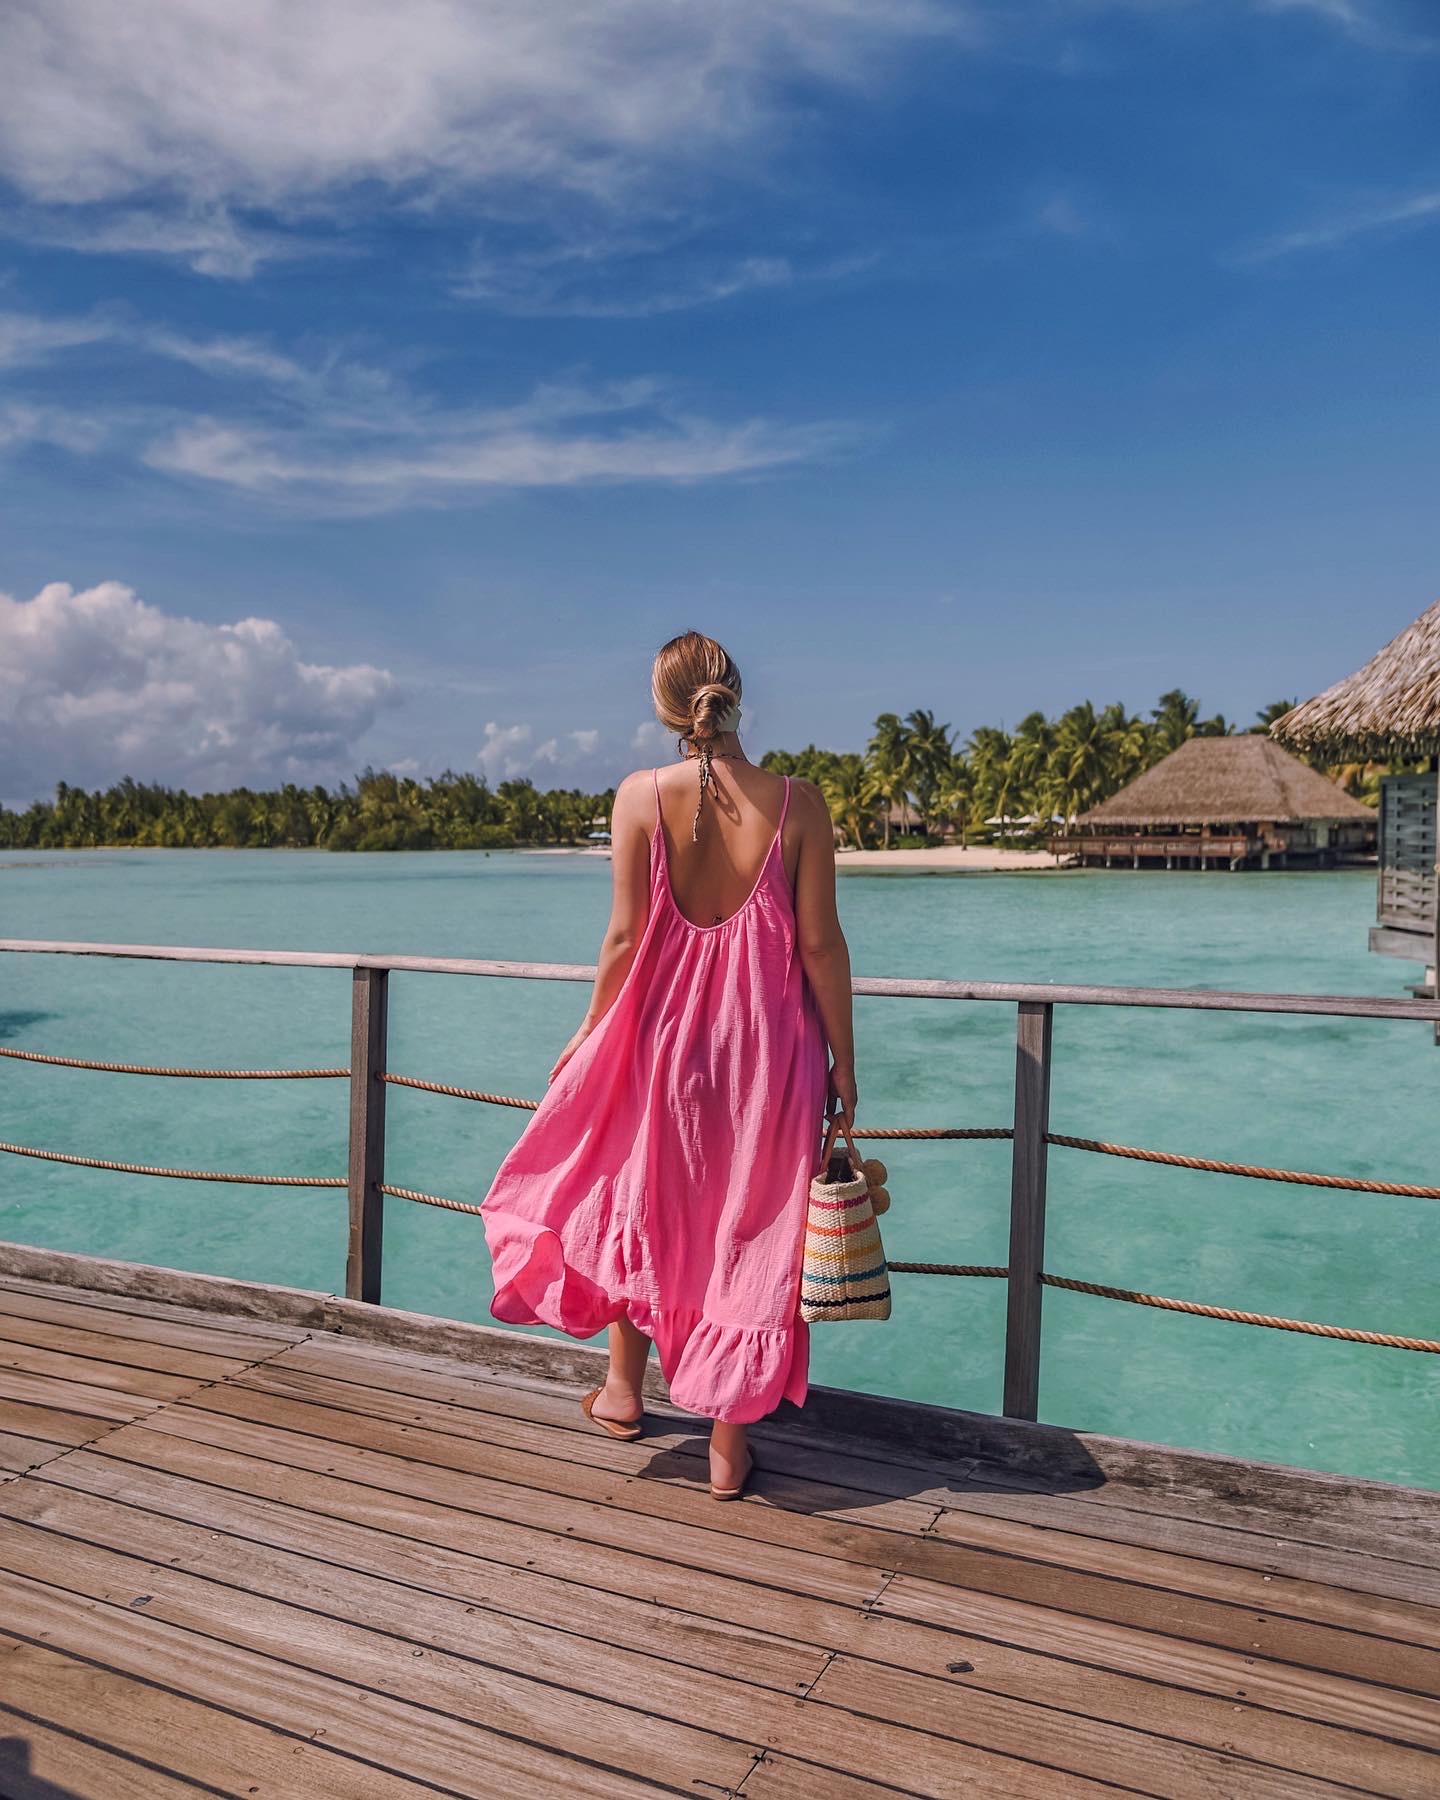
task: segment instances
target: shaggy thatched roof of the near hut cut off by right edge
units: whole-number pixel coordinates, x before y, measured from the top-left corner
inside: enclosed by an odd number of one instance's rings
[[[1440,754],[1440,601],[1363,670],[1271,725],[1280,743],[1334,761],[1411,761]]]

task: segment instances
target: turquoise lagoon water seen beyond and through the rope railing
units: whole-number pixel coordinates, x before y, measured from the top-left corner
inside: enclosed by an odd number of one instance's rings
[[[592,961],[608,862],[583,855],[0,853],[0,936]],[[848,873],[857,974],[1399,994],[1364,873]],[[391,1067],[540,1094],[571,983],[394,976]],[[347,1060],[342,970],[0,958],[0,1040],[121,1062]],[[1006,1123],[1012,1006],[864,999],[860,1123]],[[1060,1008],[1051,1127],[1435,1183],[1429,1028]],[[477,1201],[526,1114],[391,1089],[387,1177]],[[121,1161],[344,1174],[344,1082],[142,1080],[0,1060],[0,1136]],[[896,1260],[1006,1258],[1006,1145],[882,1145]],[[1051,1154],[1060,1274],[1440,1336],[1436,1202]],[[0,1156],[0,1237],[335,1289],[342,1192],[149,1181]],[[385,1298],[488,1319],[479,1220],[391,1201]],[[819,1327],[812,1379],[999,1411],[1004,1289],[898,1276],[887,1325]],[[1440,1487],[1440,1359],[1048,1291],[1057,1424]]]

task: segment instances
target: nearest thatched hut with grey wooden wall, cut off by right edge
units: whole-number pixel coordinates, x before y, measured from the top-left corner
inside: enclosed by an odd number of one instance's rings
[[[1381,781],[1381,878],[1370,949],[1426,967],[1435,990],[1440,781],[1440,601],[1361,670],[1271,725],[1280,743],[1332,761],[1409,763]]]

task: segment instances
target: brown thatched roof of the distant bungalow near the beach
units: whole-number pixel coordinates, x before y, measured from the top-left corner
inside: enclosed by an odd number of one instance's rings
[[[1078,824],[1246,824],[1372,819],[1375,810],[1262,733],[1190,738]]]

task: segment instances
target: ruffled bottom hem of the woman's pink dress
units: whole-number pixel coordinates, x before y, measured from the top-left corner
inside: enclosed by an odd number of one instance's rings
[[[567,1337],[594,1337],[628,1318],[653,1339],[670,1397],[689,1413],[751,1424],[781,1400],[805,1404],[810,1327],[799,1312],[790,1325],[727,1325],[693,1307],[617,1300],[565,1262],[554,1231],[540,1226],[531,1233],[524,1244],[493,1246],[490,1314],[502,1325],[549,1325]]]

